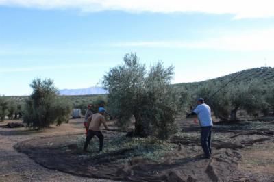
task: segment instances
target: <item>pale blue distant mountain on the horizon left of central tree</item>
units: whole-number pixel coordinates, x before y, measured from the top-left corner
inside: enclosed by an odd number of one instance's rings
[[[98,95],[108,94],[108,91],[101,87],[90,87],[80,89],[63,89],[59,90],[60,95]]]

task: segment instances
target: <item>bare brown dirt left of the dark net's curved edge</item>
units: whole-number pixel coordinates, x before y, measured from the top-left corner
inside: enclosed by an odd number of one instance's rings
[[[0,125],[6,125],[8,122],[11,121],[0,122]],[[82,135],[84,133],[82,122],[82,120],[71,120],[69,124],[51,127],[44,131],[0,127],[0,181],[110,181],[78,177],[59,170],[49,170],[14,149],[14,145],[25,140],[39,140],[39,138],[52,137],[53,135]]]

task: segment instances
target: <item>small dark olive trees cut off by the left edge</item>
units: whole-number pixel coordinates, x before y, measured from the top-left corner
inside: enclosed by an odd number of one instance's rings
[[[8,117],[10,120],[20,119],[23,114],[23,108],[21,103],[16,103],[12,99],[6,99],[4,96],[0,96],[0,121],[5,120]]]

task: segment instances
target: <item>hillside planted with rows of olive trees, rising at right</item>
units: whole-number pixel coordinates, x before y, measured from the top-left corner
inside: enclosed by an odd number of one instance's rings
[[[236,77],[238,75],[238,77]],[[274,68],[271,67],[262,67],[262,68],[252,68],[248,70],[242,70],[240,72],[232,73],[225,75],[223,77],[218,77],[216,79],[209,79],[206,81],[192,82],[192,83],[177,83],[174,86],[184,87],[186,89],[193,89],[197,86],[202,86],[203,84],[208,83],[209,81],[221,81],[226,83],[230,79],[236,77],[232,83],[248,83],[253,79],[257,79],[260,83],[269,84],[274,82]]]

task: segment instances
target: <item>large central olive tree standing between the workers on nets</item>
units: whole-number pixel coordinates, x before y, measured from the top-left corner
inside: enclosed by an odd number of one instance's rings
[[[123,65],[110,69],[103,87],[109,92],[108,107],[119,127],[130,125],[134,116],[135,135],[167,138],[174,131],[173,69],[158,62],[147,71],[133,53],[125,55]]]

